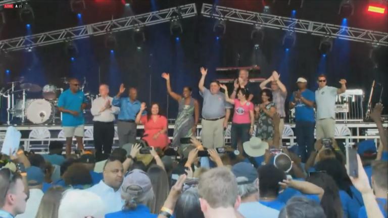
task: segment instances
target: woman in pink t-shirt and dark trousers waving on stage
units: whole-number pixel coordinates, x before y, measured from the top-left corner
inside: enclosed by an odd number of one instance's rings
[[[255,121],[255,113],[253,109],[254,105],[251,101],[247,100],[250,94],[247,89],[238,89],[238,99],[230,99],[226,86],[221,85],[221,88],[225,89],[225,100],[231,104],[234,104],[234,114],[230,137],[232,147],[237,149],[237,141],[241,140],[241,143],[249,141],[253,133],[253,124]]]

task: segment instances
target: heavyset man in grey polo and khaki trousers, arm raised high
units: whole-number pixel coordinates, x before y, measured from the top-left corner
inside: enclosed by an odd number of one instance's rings
[[[205,88],[208,70],[201,68],[201,80],[198,85],[204,98],[202,106],[202,144],[207,148],[224,145],[224,129],[228,126],[231,105],[225,101],[225,94],[220,92],[218,81],[210,83],[210,90]]]

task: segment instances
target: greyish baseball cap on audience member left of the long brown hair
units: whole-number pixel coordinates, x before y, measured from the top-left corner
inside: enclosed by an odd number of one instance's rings
[[[142,170],[132,170],[124,178],[121,185],[121,196],[127,199],[128,195],[141,195],[152,190],[152,183],[148,174]]]

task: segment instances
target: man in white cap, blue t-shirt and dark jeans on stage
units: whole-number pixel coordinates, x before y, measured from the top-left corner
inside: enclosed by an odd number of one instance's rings
[[[314,103],[315,94],[307,89],[307,80],[299,77],[298,90],[289,99],[289,108],[295,107],[295,135],[297,136],[299,156],[306,162],[314,147]]]

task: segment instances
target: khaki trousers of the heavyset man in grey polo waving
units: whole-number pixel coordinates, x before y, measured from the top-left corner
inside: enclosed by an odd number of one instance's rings
[[[206,148],[217,148],[224,146],[224,120],[216,121],[202,120],[202,145]]]

